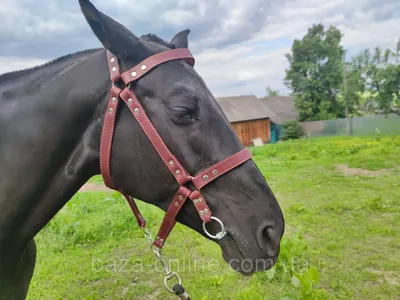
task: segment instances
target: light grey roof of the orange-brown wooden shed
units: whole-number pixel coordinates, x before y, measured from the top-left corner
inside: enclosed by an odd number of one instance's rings
[[[249,121],[270,118],[274,113],[256,96],[219,97],[221,106],[229,122]]]

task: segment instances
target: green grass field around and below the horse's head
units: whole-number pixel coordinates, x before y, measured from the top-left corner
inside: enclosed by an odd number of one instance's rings
[[[218,246],[177,224],[163,253],[174,269],[180,264],[191,298],[399,299],[400,137],[303,139],[252,151],[285,215],[280,259],[241,276]],[[346,175],[338,164],[361,170]],[[163,213],[139,206],[155,234]],[[28,299],[176,299],[142,237],[118,193],[76,194],[37,237]],[[194,272],[194,261],[205,265]]]

